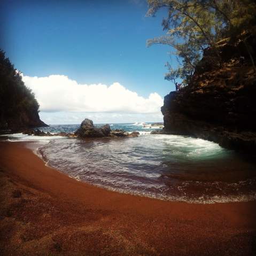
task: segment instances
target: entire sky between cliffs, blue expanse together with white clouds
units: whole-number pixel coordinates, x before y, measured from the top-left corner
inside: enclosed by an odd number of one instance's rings
[[[23,74],[48,124],[162,121],[174,87],[161,20],[144,0],[0,2],[0,48]]]

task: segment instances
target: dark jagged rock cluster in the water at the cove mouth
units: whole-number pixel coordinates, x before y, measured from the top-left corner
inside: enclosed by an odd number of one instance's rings
[[[125,130],[115,129],[111,130],[110,125],[102,127],[95,127],[92,120],[86,118],[82,121],[79,129],[76,130],[75,136],[80,138],[85,137],[137,137],[139,133],[127,133]]]

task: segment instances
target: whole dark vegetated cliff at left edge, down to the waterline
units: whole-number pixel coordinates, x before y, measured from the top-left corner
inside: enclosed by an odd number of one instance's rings
[[[0,50],[0,130],[46,126],[39,118],[38,109],[33,92]]]

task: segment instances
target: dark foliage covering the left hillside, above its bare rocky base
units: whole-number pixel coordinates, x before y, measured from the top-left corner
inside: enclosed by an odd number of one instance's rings
[[[7,126],[8,120],[20,117],[24,112],[38,112],[39,104],[33,92],[22,81],[17,71],[0,50],[0,128]]]

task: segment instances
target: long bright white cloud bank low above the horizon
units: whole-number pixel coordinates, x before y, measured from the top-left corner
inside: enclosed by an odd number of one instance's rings
[[[33,90],[43,112],[112,112],[160,114],[163,99],[153,92],[148,98],[139,96],[120,83],[79,84],[65,75],[46,77],[23,76]]]

